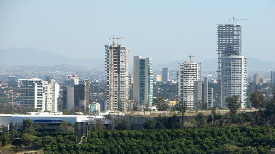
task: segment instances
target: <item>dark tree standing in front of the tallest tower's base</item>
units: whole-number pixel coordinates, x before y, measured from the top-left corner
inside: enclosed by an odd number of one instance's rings
[[[225,103],[229,109],[230,115],[235,115],[241,107],[241,102],[239,101],[238,95],[228,96],[225,99]]]

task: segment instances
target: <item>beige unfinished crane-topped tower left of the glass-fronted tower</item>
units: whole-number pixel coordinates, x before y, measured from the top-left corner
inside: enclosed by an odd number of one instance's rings
[[[107,73],[106,110],[126,110],[129,99],[127,46],[112,42],[105,45],[105,65]]]

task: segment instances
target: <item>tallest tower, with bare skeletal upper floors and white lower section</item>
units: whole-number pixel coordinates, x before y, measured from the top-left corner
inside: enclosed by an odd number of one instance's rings
[[[247,57],[241,56],[241,25],[217,25],[217,78],[220,106],[227,108],[225,99],[238,95],[241,108],[247,104]]]

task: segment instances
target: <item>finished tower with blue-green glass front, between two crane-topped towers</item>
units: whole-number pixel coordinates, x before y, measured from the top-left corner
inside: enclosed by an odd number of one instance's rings
[[[140,105],[152,104],[153,72],[152,59],[133,56],[133,101]]]

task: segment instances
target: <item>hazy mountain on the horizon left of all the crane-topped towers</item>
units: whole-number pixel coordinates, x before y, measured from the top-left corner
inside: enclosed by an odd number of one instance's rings
[[[7,48],[0,50],[0,65],[75,65],[104,69],[104,59],[70,58],[31,48]]]

